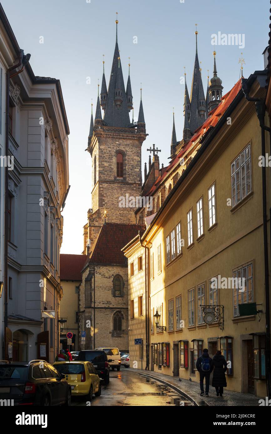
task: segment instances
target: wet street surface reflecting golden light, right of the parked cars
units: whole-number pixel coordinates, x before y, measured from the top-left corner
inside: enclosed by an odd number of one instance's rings
[[[72,405],[86,406],[86,398],[73,398]],[[122,368],[120,372],[110,371],[109,385],[102,384],[102,394],[98,398],[93,395],[91,407],[122,405],[190,406],[193,404],[159,381]]]

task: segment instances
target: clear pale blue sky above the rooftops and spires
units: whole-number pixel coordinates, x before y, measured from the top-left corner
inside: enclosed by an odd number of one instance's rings
[[[268,0],[2,0],[15,36],[35,75],[60,79],[69,135],[71,188],[63,211],[64,235],[61,253],[81,253],[83,225],[91,207],[90,155],[85,152],[89,134],[91,98],[97,98],[97,79],[102,79],[105,55],[106,83],[115,47],[116,11],[119,13],[118,42],[124,81],[131,63],[135,117],[138,115],[140,82],[148,138],[142,146],[142,173],[146,151],[155,143],[162,152],[160,164],[170,155],[172,107],[175,108],[177,140],[182,138],[186,67],[190,92],[195,60],[195,23],[198,23],[198,57],[202,62],[204,89],[207,69],[212,76],[213,33],[244,33],[245,47],[216,46],[218,76],[223,93],[239,79],[241,52],[244,76],[263,69],[261,53],[268,44]],[[44,44],[39,43],[40,36]],[[138,43],[133,43],[137,36]],[[91,84],[86,84],[90,76]]]

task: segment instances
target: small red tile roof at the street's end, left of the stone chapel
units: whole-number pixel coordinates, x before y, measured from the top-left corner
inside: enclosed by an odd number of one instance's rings
[[[60,280],[82,280],[81,270],[86,255],[66,255],[60,253]]]

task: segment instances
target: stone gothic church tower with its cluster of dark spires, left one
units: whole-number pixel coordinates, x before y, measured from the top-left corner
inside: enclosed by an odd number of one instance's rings
[[[104,62],[103,62],[104,63]],[[87,151],[92,157],[92,209],[84,226],[84,250],[89,253],[99,230],[110,223],[136,223],[136,208],[119,207],[120,197],[140,196],[142,192],[141,146],[147,134],[142,99],[138,122],[131,122],[132,87],[130,65],[125,89],[118,46],[118,20],[116,20],[116,46],[108,89],[103,67],[102,86],[93,122],[91,115]],[[102,110],[104,115],[102,117]]]

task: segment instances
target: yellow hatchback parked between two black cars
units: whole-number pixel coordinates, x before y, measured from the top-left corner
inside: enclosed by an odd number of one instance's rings
[[[55,362],[53,366],[60,374],[65,375],[66,381],[71,385],[72,396],[86,395],[87,400],[101,395],[100,378],[90,362]]]

